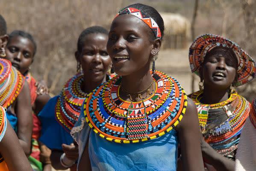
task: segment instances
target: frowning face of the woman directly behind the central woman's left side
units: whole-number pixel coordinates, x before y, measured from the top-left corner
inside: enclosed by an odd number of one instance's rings
[[[77,60],[90,81],[101,81],[106,76],[111,59],[106,50],[108,36],[102,33],[86,35],[81,52],[77,52]]]

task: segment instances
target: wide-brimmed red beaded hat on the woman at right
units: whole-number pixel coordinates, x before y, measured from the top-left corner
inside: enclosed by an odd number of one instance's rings
[[[199,36],[189,48],[189,63],[191,71],[199,75],[206,53],[211,49],[223,46],[233,50],[238,60],[238,79],[236,87],[251,81],[256,76],[256,67],[253,59],[236,43],[218,35],[205,34]]]

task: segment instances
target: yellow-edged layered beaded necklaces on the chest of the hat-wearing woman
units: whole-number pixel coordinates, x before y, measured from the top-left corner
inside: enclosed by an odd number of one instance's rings
[[[241,130],[250,113],[250,103],[235,90],[230,98],[217,104],[203,104],[203,91],[195,92],[191,99],[197,105],[199,125],[204,139],[225,157],[235,159]]]

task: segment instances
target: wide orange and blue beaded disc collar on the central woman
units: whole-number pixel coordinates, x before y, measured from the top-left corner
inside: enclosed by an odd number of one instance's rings
[[[119,97],[121,76],[97,87],[85,99],[85,120],[100,137],[117,143],[155,139],[171,131],[182,119],[187,96],[179,83],[162,72],[152,73],[155,92],[143,101]]]

